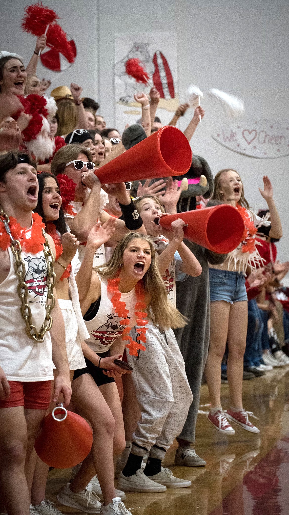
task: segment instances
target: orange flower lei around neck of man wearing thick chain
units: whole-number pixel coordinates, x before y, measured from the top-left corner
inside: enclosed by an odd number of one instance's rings
[[[31,254],[37,254],[43,250],[45,238],[42,235],[42,229],[45,230],[45,225],[42,221],[42,218],[38,213],[32,213],[32,228],[27,229],[26,227],[21,227],[18,224],[16,218],[12,216],[10,218],[10,231],[14,239],[17,239],[22,249],[25,252],[31,252]],[[8,249],[10,247],[11,241],[9,234],[7,234],[3,221],[0,221],[0,248],[2,250]]]

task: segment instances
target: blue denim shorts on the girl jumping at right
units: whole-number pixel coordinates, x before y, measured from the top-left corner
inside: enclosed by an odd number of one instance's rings
[[[245,276],[239,272],[209,268],[210,301],[224,300],[230,304],[248,300]]]

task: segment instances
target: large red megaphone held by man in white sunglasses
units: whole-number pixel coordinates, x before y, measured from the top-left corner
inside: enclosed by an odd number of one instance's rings
[[[163,127],[94,171],[102,184],[185,174],[191,148],[177,127]]]

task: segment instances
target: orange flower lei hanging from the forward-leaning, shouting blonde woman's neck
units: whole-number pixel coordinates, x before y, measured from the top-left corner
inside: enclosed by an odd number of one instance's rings
[[[110,299],[111,304],[113,305],[115,313],[118,314],[118,316],[122,319],[120,320],[121,325],[125,325],[125,329],[122,333],[122,339],[128,340],[129,343],[126,344],[126,348],[129,350],[129,354],[131,356],[138,356],[140,350],[145,351],[145,346],[139,343],[138,341],[134,341],[131,336],[129,336],[129,332],[131,330],[131,327],[129,327],[129,319],[127,318],[129,311],[126,309],[125,302],[121,301],[121,292],[119,290],[119,282],[120,279],[108,279],[107,281],[107,294],[108,297],[110,294],[112,294],[112,297]],[[137,302],[134,305],[134,309],[136,310],[134,314],[137,316],[137,325],[138,327],[138,336],[137,339],[142,341],[144,344],[146,343],[146,330],[145,327],[148,323],[148,320],[145,320],[147,317],[147,314],[142,311],[146,308],[146,304],[144,302],[145,294],[144,294],[144,288],[141,281],[139,281],[136,285],[136,297]]]

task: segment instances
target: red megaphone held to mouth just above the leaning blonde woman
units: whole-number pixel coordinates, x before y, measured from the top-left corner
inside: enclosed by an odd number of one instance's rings
[[[182,218],[188,225],[184,227],[185,238],[218,254],[232,252],[243,239],[244,221],[232,205],[165,215],[159,219],[159,225],[170,229],[171,222],[177,218]]]

